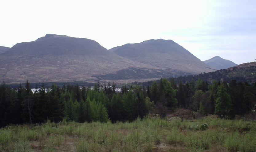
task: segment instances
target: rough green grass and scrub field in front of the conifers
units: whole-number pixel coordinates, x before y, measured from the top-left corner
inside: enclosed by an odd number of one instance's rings
[[[255,152],[255,136],[256,122],[244,120],[145,118],[116,124],[63,121],[2,128],[0,151]]]

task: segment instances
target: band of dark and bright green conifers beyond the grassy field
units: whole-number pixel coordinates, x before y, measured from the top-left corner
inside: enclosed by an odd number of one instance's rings
[[[95,84],[93,89],[78,85],[53,84],[50,88],[31,90],[30,83],[11,88],[0,85],[0,126],[8,124],[59,122],[64,118],[76,122],[133,121],[148,113],[165,117],[177,107],[199,111],[201,115],[215,113],[233,118],[254,109],[256,83],[232,80],[213,81],[212,85],[198,79],[177,85],[173,78],[160,79],[147,88],[123,86],[116,92],[115,84]]]

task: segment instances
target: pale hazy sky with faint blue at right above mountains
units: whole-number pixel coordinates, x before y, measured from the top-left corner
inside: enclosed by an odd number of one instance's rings
[[[202,61],[256,58],[256,0],[6,0],[0,17],[0,46],[6,47],[51,33],[96,40],[107,49],[174,40]]]

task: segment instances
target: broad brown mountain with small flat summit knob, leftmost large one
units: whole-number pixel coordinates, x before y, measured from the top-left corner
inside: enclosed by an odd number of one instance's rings
[[[14,45],[0,54],[0,62],[0,77],[6,83],[95,82],[99,79],[94,75],[156,68],[120,57],[94,40],[54,34]]]

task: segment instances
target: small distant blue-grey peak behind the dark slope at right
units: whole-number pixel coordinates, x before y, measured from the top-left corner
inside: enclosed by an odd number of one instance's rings
[[[230,60],[222,59],[219,56],[215,56],[215,57],[213,57],[209,60],[203,61],[203,62],[206,63],[208,66],[211,66],[217,70],[227,69],[232,66],[237,66],[237,64],[235,64],[234,62],[232,62]]]

